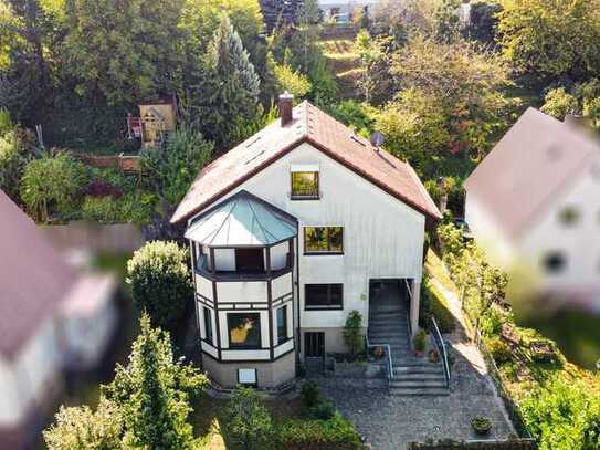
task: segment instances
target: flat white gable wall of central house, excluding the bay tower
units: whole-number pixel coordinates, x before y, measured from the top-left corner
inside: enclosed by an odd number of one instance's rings
[[[292,200],[293,165],[318,165],[318,200]],[[312,147],[299,145],[221,200],[240,190],[262,198],[298,219],[299,310],[302,327],[341,327],[348,313],[368,321],[370,279],[420,281],[425,218],[372,182]],[[344,254],[304,255],[303,227],[344,227]],[[343,283],[344,308],[304,311],[304,284]]]

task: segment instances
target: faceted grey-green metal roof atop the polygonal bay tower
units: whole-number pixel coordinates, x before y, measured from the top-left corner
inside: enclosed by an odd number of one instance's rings
[[[207,211],[186,238],[212,247],[272,245],[296,236],[296,223],[284,212],[242,190]]]

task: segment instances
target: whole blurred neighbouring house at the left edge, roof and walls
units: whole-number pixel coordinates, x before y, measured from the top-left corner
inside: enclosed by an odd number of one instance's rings
[[[0,448],[39,436],[65,370],[98,362],[116,324],[108,275],[81,274],[0,190]]]

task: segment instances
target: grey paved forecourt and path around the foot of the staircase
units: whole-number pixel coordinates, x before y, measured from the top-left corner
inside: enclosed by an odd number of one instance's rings
[[[455,355],[450,396],[392,397],[387,389],[366,388],[364,380],[316,378],[324,395],[373,449],[403,450],[408,442],[427,439],[481,439],[471,428],[474,416],[492,419],[491,438],[515,433],[483,358],[466,336],[459,300],[443,286],[436,287],[446,295],[456,318],[456,331],[445,336]]]

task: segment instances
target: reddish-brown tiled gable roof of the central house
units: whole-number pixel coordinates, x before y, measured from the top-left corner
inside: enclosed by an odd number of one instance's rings
[[[171,222],[189,219],[304,142],[415,210],[441,217],[408,163],[377,150],[344,124],[303,102],[294,107],[291,124],[281,126],[281,121],[276,121],[204,167]]]

